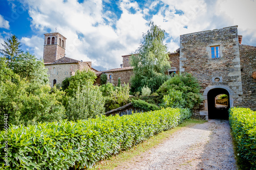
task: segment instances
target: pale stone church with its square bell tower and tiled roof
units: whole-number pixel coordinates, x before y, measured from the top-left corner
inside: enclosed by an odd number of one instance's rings
[[[49,33],[45,35],[44,42],[44,62],[48,68],[49,81],[51,86],[61,84],[67,77],[75,75],[77,70],[91,69],[92,62],[82,62],[66,57],[66,40],[59,33]]]

